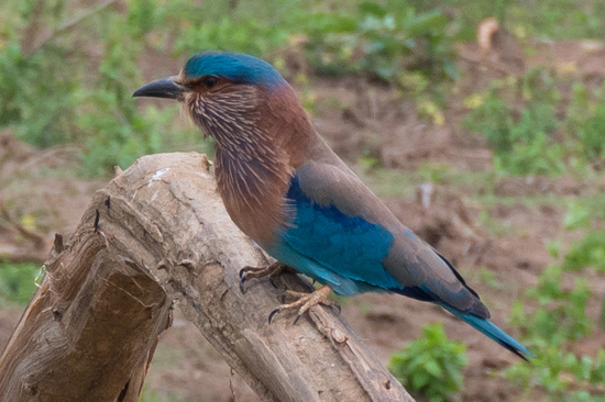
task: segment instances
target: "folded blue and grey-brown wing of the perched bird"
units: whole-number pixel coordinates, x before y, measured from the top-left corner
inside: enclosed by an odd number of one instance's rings
[[[339,276],[487,317],[451,264],[404,226],[346,167],[310,161],[287,198],[295,220],[283,241]]]

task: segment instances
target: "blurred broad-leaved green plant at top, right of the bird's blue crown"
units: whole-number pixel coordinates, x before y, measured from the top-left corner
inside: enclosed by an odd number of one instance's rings
[[[448,19],[439,11],[418,13],[411,7],[397,13],[375,1],[355,12],[299,15],[308,37],[306,57],[319,72],[367,72],[391,83],[405,80],[406,70],[427,78],[457,78]]]

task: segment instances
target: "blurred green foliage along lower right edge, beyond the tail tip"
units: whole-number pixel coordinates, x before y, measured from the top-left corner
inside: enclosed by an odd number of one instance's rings
[[[537,359],[531,366],[510,367],[506,376],[527,394],[539,388],[553,401],[605,401],[605,348],[590,356],[573,347],[605,327],[605,300],[598,325],[587,315],[594,295],[585,278],[587,269],[605,272],[604,217],[601,196],[570,202],[563,224],[585,234],[571,245],[560,265],[542,271],[538,284],[526,292],[526,300],[518,300],[513,308],[512,324],[522,330]],[[551,248],[558,257],[560,246],[551,243]]]

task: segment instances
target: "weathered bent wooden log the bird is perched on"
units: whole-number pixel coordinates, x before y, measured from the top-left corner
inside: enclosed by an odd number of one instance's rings
[[[136,401],[175,301],[263,401],[413,401],[331,309],[267,323],[285,287],[308,289],[297,276],[240,292],[240,268],[267,261],[208,166],[147,156],[96,193],[0,359],[0,400]]]

